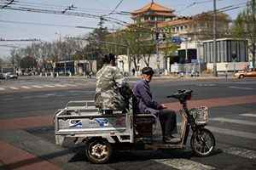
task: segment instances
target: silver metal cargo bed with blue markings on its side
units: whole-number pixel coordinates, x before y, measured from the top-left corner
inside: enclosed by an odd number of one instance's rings
[[[117,137],[119,142],[133,142],[131,123],[130,113],[103,114],[95,107],[94,100],[70,101],[64,109],[55,112],[56,144],[62,144],[66,137],[102,137],[110,143]]]

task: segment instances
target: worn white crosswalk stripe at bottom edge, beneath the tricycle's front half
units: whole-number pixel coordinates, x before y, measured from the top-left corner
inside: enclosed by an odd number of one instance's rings
[[[154,160],[158,163],[162,163],[166,166],[173,167],[176,169],[182,169],[182,170],[211,170],[216,169],[215,167],[210,167],[204,164],[201,164],[196,161],[190,161],[187,159],[158,159]]]

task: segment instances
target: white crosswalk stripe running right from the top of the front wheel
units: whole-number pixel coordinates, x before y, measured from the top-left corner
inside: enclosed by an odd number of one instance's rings
[[[207,129],[209,129],[214,133],[222,133],[222,134],[232,135],[232,136],[241,137],[245,139],[256,139],[256,133],[247,133],[247,132],[242,132],[237,130],[230,130],[226,128],[212,127],[212,126],[207,126]]]

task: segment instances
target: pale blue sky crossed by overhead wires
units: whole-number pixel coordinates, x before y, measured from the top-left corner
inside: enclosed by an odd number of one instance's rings
[[[1,8],[10,0],[0,0],[0,38],[3,39],[32,39],[52,42],[64,37],[76,37],[84,35],[91,29],[77,28],[76,26],[98,27],[99,19],[71,16],[65,14],[44,14],[19,10]],[[217,8],[224,8],[230,5],[241,6],[234,10],[227,11],[231,19],[235,20],[236,15],[245,8],[247,0],[216,0]],[[167,8],[175,10],[175,14],[191,16],[212,10],[213,0],[154,0]],[[151,0],[15,0],[11,8],[41,8],[51,11],[64,11],[68,6],[73,5],[73,11],[77,13],[109,14],[115,7],[115,12],[131,12],[144,5],[151,3]],[[110,14],[114,19],[131,23],[130,15]],[[117,29],[121,26],[106,21],[104,26]],[[31,42],[1,42],[0,58],[9,55],[10,49],[14,47],[26,47]],[[10,45],[13,47],[3,47]]]

